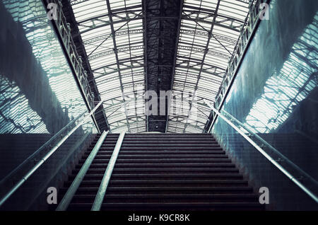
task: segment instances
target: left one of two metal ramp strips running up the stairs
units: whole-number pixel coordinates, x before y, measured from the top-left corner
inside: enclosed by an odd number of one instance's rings
[[[98,151],[100,150],[100,146],[102,146],[102,143],[104,142],[108,132],[104,131],[102,132],[102,135],[98,139],[98,142],[95,144],[93,150],[90,152],[88,158],[86,159],[85,163],[81,167],[81,170],[76,175],[76,178],[71,183],[71,186],[67,190],[66,194],[62,198],[61,202],[59,202],[59,205],[57,206],[56,211],[65,211],[67,207],[69,207],[69,204],[71,203],[71,200],[73,196],[75,195],[76,190],[78,190],[79,185],[81,185],[81,182],[86,175],[88,168],[90,168],[90,165],[92,164],[96,154],[98,154]]]

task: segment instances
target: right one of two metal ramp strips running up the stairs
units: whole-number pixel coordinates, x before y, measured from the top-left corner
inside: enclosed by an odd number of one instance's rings
[[[108,183],[110,183],[110,177],[112,176],[112,171],[114,169],[114,164],[116,163],[119,150],[122,147],[122,141],[124,140],[125,132],[119,134],[119,138],[117,140],[116,146],[114,147],[114,151],[112,152],[112,156],[110,157],[110,161],[102,177],[102,182],[100,183],[100,188],[98,188],[98,193],[95,197],[93,207],[90,209],[91,211],[100,211],[102,207],[102,201],[104,200],[105,193],[107,190]]]

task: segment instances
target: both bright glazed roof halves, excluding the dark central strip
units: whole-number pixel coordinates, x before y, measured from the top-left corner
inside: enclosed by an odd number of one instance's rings
[[[111,132],[146,132],[143,2],[70,3]],[[203,132],[210,114],[204,99],[215,100],[248,6],[237,0],[183,2],[172,92],[192,94],[183,113],[172,114],[182,111],[184,99],[171,101],[167,132]]]

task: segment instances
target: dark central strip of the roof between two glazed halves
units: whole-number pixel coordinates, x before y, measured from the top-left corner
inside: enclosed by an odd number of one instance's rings
[[[147,90],[170,91],[177,51],[180,0],[143,1],[146,11]],[[182,7],[182,6],[181,6]],[[163,108],[162,108],[163,109]],[[158,105],[160,111],[160,105]],[[166,113],[168,107],[165,108]],[[167,114],[166,114],[167,115]],[[165,132],[166,115],[149,115],[148,131]]]

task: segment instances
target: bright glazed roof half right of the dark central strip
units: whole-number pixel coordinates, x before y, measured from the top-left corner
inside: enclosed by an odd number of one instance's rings
[[[192,93],[192,106],[187,115],[170,112],[167,132],[203,131],[210,114],[204,99],[214,102],[247,13],[243,1],[184,1],[172,91]]]

